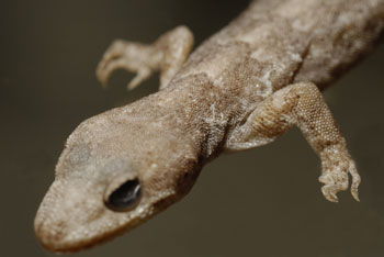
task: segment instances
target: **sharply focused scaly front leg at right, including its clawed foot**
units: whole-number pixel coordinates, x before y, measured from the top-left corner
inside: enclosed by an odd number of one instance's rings
[[[298,126],[321,160],[319,181],[325,183],[321,191],[326,199],[338,201],[336,193],[348,189],[350,174],[351,193],[359,201],[360,176],[354,161],[321,93],[310,82],[287,86],[267,98],[231,133],[226,148],[240,150],[270,143],[293,125]]]

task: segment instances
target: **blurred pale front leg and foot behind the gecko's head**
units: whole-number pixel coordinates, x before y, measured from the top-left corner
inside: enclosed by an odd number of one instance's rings
[[[117,40],[99,63],[97,77],[105,87],[111,74],[123,68],[137,74],[127,86],[128,89],[134,89],[154,71],[160,70],[162,89],[187,60],[192,47],[193,34],[187,26],[178,26],[167,32],[150,45]]]

